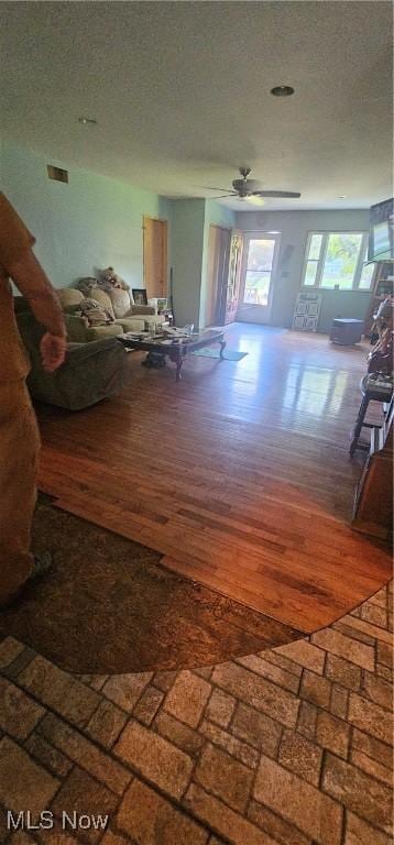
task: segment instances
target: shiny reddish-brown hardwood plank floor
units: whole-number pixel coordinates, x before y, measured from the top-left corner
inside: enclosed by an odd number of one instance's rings
[[[134,352],[121,396],[41,408],[40,486],[171,569],[316,630],[391,575],[387,550],[350,528],[366,350],[241,323],[227,342],[249,354],[193,356],[176,384]]]

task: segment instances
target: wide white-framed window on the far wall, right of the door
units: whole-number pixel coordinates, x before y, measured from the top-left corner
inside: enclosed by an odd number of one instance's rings
[[[366,264],[368,232],[310,232],[303,285],[370,290],[374,264]]]

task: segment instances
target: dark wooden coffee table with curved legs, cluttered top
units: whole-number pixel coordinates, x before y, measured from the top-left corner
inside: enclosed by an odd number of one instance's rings
[[[216,331],[215,329],[208,331],[201,331],[196,334],[191,334],[189,338],[182,338],[173,340],[171,338],[146,337],[135,338],[133,332],[125,332],[124,334],[118,334],[118,340],[127,349],[141,349],[144,352],[154,352],[155,355],[167,356],[176,364],[176,381],[182,378],[182,366],[185,358],[194,352],[196,349],[204,349],[204,347],[211,347],[214,343],[220,344],[220,358],[223,358],[223,351],[226,347],[225,334],[222,331]]]

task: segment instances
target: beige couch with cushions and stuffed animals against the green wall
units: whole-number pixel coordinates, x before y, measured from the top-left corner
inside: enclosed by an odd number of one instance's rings
[[[87,326],[84,317],[72,314],[72,310],[84,301],[84,294],[75,287],[62,287],[56,290],[65,312],[67,338],[70,341],[87,343],[91,340],[113,338],[127,331],[143,331],[145,323],[162,325],[165,317],[158,315],[156,308],[150,305],[134,305],[129,290],[111,288],[106,292],[94,288],[90,298],[111,315],[113,322],[105,326]]]

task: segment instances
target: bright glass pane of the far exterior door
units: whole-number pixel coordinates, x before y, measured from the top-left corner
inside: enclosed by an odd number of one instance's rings
[[[267,305],[274,251],[274,238],[259,238],[249,241],[244,304]]]

